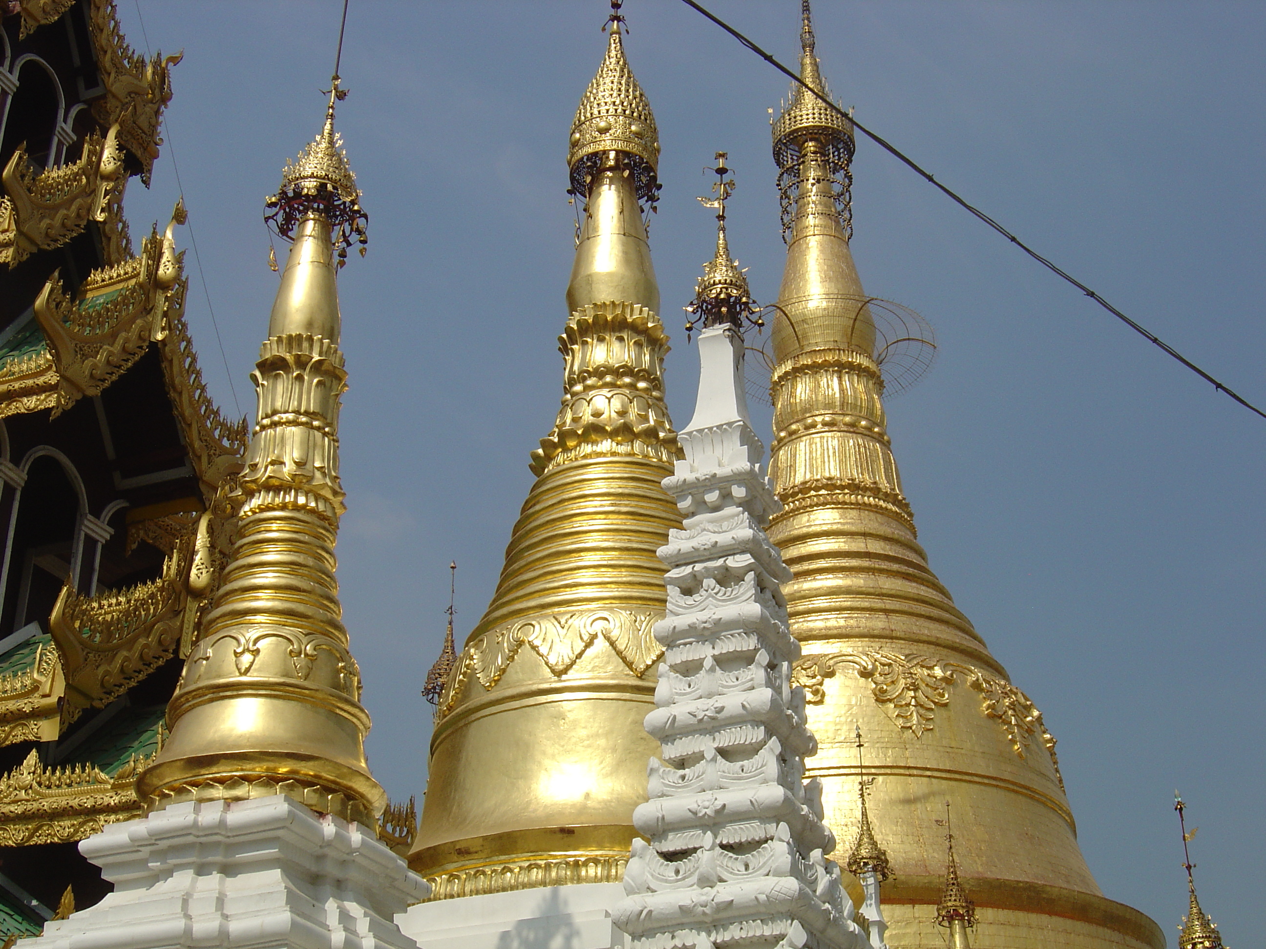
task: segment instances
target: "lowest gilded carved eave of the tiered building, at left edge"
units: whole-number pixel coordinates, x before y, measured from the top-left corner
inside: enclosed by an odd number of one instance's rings
[[[133,755],[110,776],[91,764],[44,768],[32,752],[0,777],[0,847],[68,844],[139,817],[135,776],[151,760]]]

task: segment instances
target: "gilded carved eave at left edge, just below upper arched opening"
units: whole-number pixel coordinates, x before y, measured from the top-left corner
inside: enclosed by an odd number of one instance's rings
[[[125,181],[116,133],[90,134],[77,161],[44,171],[30,163],[25,147],[13,153],[0,173],[0,263],[16,267],[38,251],[61,247],[90,219],[105,219]]]

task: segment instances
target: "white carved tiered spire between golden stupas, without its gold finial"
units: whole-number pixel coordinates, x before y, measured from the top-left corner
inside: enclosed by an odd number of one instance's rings
[[[817,743],[791,687],[791,573],[763,530],[779,502],[747,418],[742,335],[708,328],[699,356],[686,461],[663,481],[685,523],[658,552],[666,652],[646,729],[661,758],[633,814],[649,844],[633,841],[613,920],[630,949],[870,949],[825,859],[820,785],[804,781]]]

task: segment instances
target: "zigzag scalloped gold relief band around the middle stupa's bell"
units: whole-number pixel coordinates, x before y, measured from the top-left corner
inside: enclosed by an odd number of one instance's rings
[[[576,661],[601,636],[620,661],[638,677],[663,655],[652,628],[662,614],[629,610],[596,610],[551,614],[515,620],[477,636],[457,658],[439,697],[437,715],[447,715],[473,676],[485,690],[492,688],[524,644],[541,657],[555,676],[565,676]]]

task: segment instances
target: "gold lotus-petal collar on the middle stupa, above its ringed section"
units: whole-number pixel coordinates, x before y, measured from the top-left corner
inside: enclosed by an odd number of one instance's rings
[[[681,457],[663,401],[668,337],[639,304],[589,304],[558,337],[566,361],[562,407],[532,453],[532,473],[595,456]]]

